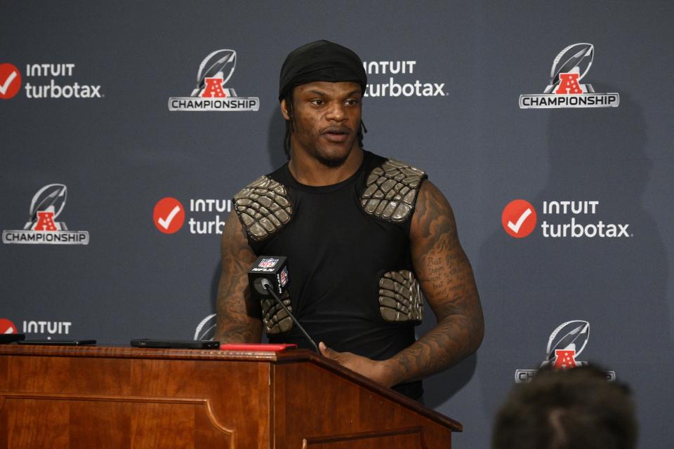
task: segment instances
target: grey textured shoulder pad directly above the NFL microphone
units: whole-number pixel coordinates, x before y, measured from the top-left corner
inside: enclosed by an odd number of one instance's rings
[[[256,241],[278,232],[293,215],[286,188],[267,176],[258,177],[234,195],[234,209],[248,235]]]

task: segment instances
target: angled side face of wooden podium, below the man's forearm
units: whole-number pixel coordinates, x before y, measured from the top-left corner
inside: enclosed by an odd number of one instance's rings
[[[301,362],[276,365],[274,372],[275,441],[284,442],[283,447],[451,447],[451,429],[411,413],[390,394],[360,387],[348,373],[335,375],[322,366]],[[416,430],[399,431],[410,427]],[[359,438],[341,440],[345,435]]]

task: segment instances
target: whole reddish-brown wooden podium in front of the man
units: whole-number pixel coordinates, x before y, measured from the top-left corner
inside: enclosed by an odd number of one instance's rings
[[[305,350],[0,346],[0,448],[447,449],[461,430]]]

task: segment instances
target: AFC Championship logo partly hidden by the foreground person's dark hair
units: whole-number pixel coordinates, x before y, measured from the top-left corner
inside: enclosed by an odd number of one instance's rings
[[[590,338],[590,323],[583,320],[567,321],[557,326],[548,338],[548,347],[546,348],[546,360],[541,363],[543,366],[552,365],[557,369],[575,368],[576,366],[587,365],[586,361],[576,360],[581,355],[583,349],[588,344]],[[515,382],[529,382],[536,375],[538,370],[516,370]],[[608,371],[607,380],[616,380],[616,373]]]

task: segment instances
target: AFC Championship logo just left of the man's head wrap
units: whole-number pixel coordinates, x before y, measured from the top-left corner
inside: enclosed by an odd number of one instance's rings
[[[237,52],[216,50],[199,65],[197,86],[189,97],[169,98],[169,111],[257,111],[260,99],[239,97],[225,83],[234,74]]]

